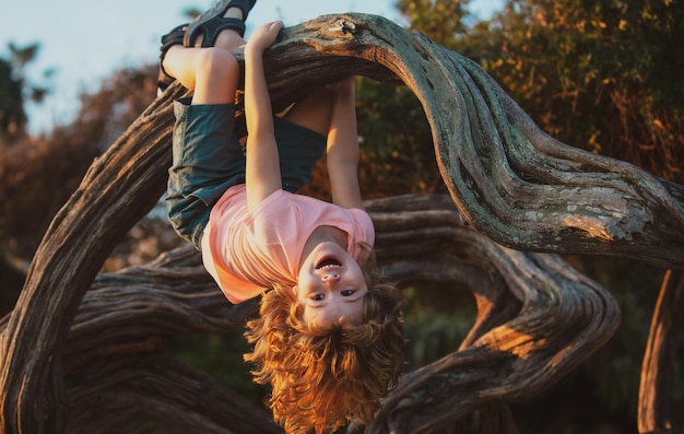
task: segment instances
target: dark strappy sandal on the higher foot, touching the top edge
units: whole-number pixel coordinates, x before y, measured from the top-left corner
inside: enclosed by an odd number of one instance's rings
[[[245,21],[256,2],[257,0],[220,0],[209,11],[194,19],[186,31],[182,44],[186,47],[192,47],[197,37],[203,34],[202,47],[213,47],[216,37],[224,30],[233,30],[240,36],[245,36]],[[243,11],[243,20],[224,17],[228,8],[238,8]]]

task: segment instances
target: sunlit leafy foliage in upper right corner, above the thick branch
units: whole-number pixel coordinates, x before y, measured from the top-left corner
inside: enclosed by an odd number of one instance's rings
[[[515,0],[457,40],[542,129],[682,183],[684,4]]]

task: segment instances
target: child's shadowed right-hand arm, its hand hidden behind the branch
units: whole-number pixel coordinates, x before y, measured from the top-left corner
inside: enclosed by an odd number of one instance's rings
[[[328,175],[332,202],[343,208],[361,208],[358,186],[358,133],[354,78],[334,86],[330,132],[328,133]]]

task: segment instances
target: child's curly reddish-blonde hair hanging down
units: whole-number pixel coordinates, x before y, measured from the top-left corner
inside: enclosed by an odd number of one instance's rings
[[[403,365],[403,296],[366,272],[364,320],[327,330],[304,321],[292,288],[263,294],[260,316],[247,322],[255,382],[271,384],[268,404],[288,434],[320,434],[357,420],[368,423],[380,398],[397,386]]]

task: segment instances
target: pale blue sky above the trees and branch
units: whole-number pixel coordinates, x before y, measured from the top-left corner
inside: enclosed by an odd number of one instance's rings
[[[8,45],[38,43],[40,50],[26,75],[52,90],[40,105],[27,104],[28,128],[49,132],[68,125],[79,108],[79,94],[96,92],[103,79],[122,68],[158,61],[160,38],[188,21],[186,10],[207,10],[214,0],[0,0],[0,58]],[[329,13],[363,12],[382,15],[401,25],[397,0],[258,0],[247,21],[247,34],[258,24],[282,20],[285,25]],[[486,17],[504,0],[471,0],[469,9]],[[57,19],[59,16],[59,19]],[[47,71],[54,71],[46,77]]]

